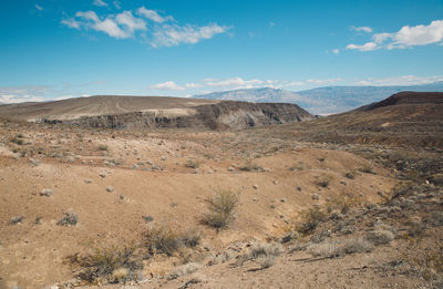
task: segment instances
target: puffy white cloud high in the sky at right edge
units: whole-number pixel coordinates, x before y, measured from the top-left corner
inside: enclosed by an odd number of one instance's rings
[[[347,49],[373,51],[379,49],[405,49],[412,47],[442,44],[443,20],[434,20],[429,25],[404,25],[398,32],[383,32],[372,35],[372,41],[364,44],[349,44]]]

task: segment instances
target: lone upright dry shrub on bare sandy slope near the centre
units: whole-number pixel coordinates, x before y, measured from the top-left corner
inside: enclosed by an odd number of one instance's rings
[[[203,224],[216,229],[224,229],[235,220],[238,194],[227,189],[218,189],[207,203],[209,213],[203,216]]]

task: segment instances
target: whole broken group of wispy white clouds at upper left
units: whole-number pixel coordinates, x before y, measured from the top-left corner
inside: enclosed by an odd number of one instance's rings
[[[95,4],[103,6],[99,2]],[[120,3],[115,6],[120,7]],[[146,21],[151,22],[150,25]],[[230,29],[217,23],[203,27],[189,23],[181,25],[172,16],[162,16],[145,7],[136,9],[135,13],[124,11],[104,17],[99,17],[95,11],[79,11],[74,18],[63,19],[61,23],[71,29],[100,31],[115,39],[140,37],[143,41],[147,39],[153,48],[175,47],[183,43],[195,44],[226,33]],[[143,33],[137,34],[137,31]]]

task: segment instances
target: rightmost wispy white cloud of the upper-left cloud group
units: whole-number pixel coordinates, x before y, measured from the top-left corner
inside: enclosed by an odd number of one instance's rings
[[[206,27],[164,24],[153,33],[151,45],[158,48],[175,47],[182,43],[195,44],[200,40],[212,39],[216,34],[225,33],[228,29],[227,27],[219,27],[216,23]]]

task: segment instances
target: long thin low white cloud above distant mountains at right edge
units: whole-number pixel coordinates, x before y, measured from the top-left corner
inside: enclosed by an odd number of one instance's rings
[[[387,86],[387,85],[420,85],[430,84],[433,82],[443,81],[443,75],[433,76],[415,76],[415,75],[402,75],[387,79],[367,79],[358,81],[357,85],[373,85],[373,86]]]

